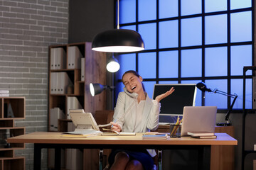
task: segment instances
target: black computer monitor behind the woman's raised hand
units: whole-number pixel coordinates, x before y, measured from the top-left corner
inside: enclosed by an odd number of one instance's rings
[[[153,99],[171,87],[175,91],[160,101],[160,115],[182,115],[184,106],[195,106],[196,84],[154,84]]]

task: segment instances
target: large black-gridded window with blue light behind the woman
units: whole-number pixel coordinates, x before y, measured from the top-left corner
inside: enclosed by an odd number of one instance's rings
[[[136,30],[146,49],[119,55],[122,74],[134,69],[152,97],[159,84],[205,82],[210,89],[238,94],[234,108],[242,108],[242,67],[254,62],[252,0],[121,0],[120,28]],[[247,72],[252,96],[252,72]],[[117,95],[116,95],[117,96]],[[196,106],[230,107],[233,98],[198,90]],[[252,97],[246,108],[252,108]]]

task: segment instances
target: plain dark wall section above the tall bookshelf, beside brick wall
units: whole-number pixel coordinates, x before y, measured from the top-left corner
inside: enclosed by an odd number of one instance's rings
[[[94,36],[114,28],[114,0],[69,1],[68,43],[92,42]]]

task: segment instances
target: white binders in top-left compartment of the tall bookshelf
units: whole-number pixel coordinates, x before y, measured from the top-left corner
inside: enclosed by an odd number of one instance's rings
[[[50,69],[65,69],[65,50],[62,47],[50,49]]]

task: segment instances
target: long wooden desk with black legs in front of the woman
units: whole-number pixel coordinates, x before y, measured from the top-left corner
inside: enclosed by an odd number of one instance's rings
[[[168,140],[142,140],[136,136],[61,137],[61,132],[33,132],[7,139],[9,143],[34,144],[34,169],[41,169],[41,149],[55,149],[55,169],[60,169],[60,149],[196,149],[198,169],[210,170],[210,148],[218,145],[238,145],[238,141],[226,133],[216,133],[217,139],[198,140],[191,137],[169,138]]]

